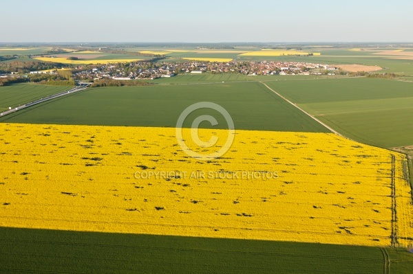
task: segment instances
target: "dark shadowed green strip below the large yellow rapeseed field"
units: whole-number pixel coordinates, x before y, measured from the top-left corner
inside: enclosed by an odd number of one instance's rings
[[[399,249],[0,228],[1,273],[409,274]],[[383,252],[390,255],[384,270]],[[387,257],[386,257],[387,258]]]

